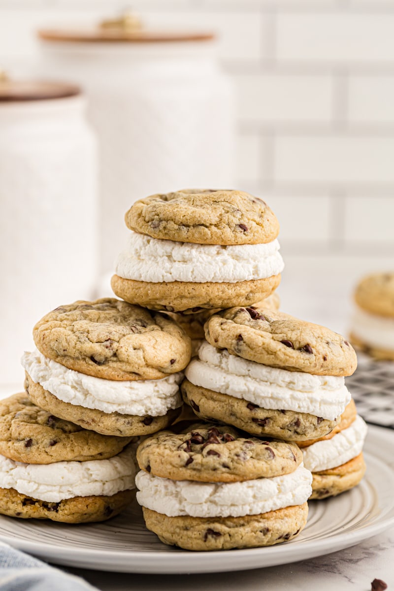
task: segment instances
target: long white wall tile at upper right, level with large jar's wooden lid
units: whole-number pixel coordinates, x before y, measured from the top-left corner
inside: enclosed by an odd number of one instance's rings
[[[279,14],[278,60],[394,64],[394,14]]]

